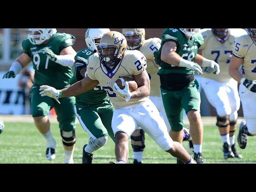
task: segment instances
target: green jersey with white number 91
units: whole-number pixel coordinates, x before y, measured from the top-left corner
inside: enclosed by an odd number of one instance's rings
[[[60,55],[62,49],[74,44],[75,39],[71,34],[56,33],[47,44],[33,45],[28,38],[22,42],[23,52],[30,56],[35,69],[34,85],[49,85],[56,89],[70,86],[72,68],[50,60],[40,49],[48,47],[54,54]]]

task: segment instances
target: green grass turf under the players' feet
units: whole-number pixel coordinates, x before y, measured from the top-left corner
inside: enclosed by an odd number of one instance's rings
[[[51,124],[52,135],[56,146],[56,159],[48,161],[45,158],[45,139],[38,132],[34,124],[29,123],[5,123],[5,129],[0,134],[0,163],[63,163],[64,152],[58,124]],[[82,162],[82,147],[88,142],[88,134],[80,124],[76,126],[76,149],[74,162]],[[176,159],[162,151],[156,143],[146,135],[146,148],[144,150],[144,163],[176,163]],[[184,142],[187,147],[187,142]],[[214,126],[204,126],[203,157],[206,163],[256,163],[255,146],[256,139],[248,138],[248,146],[242,150],[236,146],[242,154],[242,159],[224,160],[222,142],[218,129]],[[115,161],[114,142],[108,138],[105,146],[94,152],[94,163],[109,163]],[[129,140],[129,159],[132,163],[132,147]]]

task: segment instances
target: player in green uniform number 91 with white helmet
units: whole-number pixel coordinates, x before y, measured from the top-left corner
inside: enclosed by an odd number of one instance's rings
[[[49,84],[58,88],[70,86],[72,66],[76,51],[72,48],[75,37],[66,33],[57,33],[56,28],[30,28],[30,34],[22,42],[23,53],[12,63],[3,78],[15,78],[22,68],[31,61],[35,69],[32,86],[31,108],[34,122],[46,139],[46,158],[55,158],[56,141],[50,131],[48,113],[54,107],[59,122],[60,134],[64,146],[64,163],[74,163],[73,153],[76,143],[74,97],[60,99],[41,97],[39,87]]]

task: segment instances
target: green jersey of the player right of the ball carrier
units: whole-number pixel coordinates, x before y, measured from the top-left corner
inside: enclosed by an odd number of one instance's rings
[[[158,72],[159,75],[168,73],[194,74],[194,70],[186,67],[172,66],[161,60],[162,46],[167,41],[176,42],[176,53],[179,54],[182,58],[188,61],[194,61],[198,48],[204,44],[204,38],[202,37],[202,34],[198,33],[196,36],[188,39],[180,29],[165,29],[162,32],[161,48],[154,52],[156,63],[161,66],[161,69]]]

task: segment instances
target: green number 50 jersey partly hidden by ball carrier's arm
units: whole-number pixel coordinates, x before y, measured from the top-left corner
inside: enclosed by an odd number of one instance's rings
[[[77,68],[85,67],[88,64],[88,58],[93,54],[94,52],[88,48],[77,52],[75,56],[76,67],[75,67],[74,75],[70,80],[70,84],[74,84],[79,80],[83,79],[82,75],[80,74],[80,71]],[[102,104],[105,101],[109,101],[107,92],[104,89],[102,89],[101,86],[98,85],[94,89],[88,92],[77,95],[75,105],[76,107],[84,107],[88,105],[92,106],[92,105]]]

